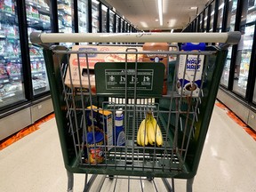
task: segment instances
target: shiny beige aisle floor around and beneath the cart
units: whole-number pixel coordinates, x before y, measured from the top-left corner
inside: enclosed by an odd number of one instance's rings
[[[55,119],[52,119],[42,124],[38,131],[0,151],[1,192],[66,191],[67,176],[55,126]],[[255,175],[255,140],[223,109],[215,106],[194,191],[256,191]],[[155,179],[158,191],[164,192],[166,190],[161,182]],[[115,183],[116,180],[105,180],[101,191],[113,191]],[[127,191],[127,183],[127,180],[117,180],[116,191]],[[144,191],[155,191],[154,183],[144,180],[141,184]],[[175,180],[177,192],[185,191],[185,187],[184,180]],[[84,175],[76,174],[74,191],[83,191],[83,188]],[[130,191],[140,191],[139,180],[131,180]]]

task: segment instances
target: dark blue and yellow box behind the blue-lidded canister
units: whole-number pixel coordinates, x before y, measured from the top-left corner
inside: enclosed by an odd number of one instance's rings
[[[108,150],[113,146],[113,117],[112,112],[96,106],[86,109],[86,123],[88,132],[102,132]]]

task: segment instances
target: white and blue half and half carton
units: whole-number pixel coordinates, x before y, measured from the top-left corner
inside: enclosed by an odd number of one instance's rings
[[[205,44],[191,44],[181,46],[184,51],[204,51]],[[204,68],[204,55],[182,54],[178,68],[177,90],[179,94],[192,97],[200,96],[202,74]]]

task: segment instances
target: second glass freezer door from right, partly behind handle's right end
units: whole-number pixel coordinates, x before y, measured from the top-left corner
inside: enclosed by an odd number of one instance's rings
[[[236,9],[237,9],[237,0],[229,1],[226,31],[234,31],[235,30]],[[222,76],[220,79],[220,84],[225,87],[228,87],[232,50],[233,50],[233,46],[229,46],[228,47],[228,57],[227,57],[225,65],[224,65],[223,73],[222,73]]]

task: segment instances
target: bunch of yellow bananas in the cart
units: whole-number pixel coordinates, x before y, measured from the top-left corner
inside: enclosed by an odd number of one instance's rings
[[[146,118],[140,123],[139,130],[137,132],[137,144],[140,146],[163,146],[163,136],[159,125],[156,122],[156,118],[152,115],[151,111],[147,112]]]

